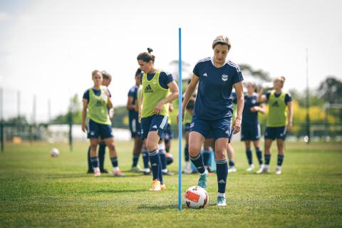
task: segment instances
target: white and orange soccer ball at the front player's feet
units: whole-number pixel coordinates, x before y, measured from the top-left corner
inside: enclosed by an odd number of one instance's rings
[[[209,196],[203,187],[192,186],[185,192],[185,203],[187,207],[199,209],[204,208],[204,206],[209,202]]]

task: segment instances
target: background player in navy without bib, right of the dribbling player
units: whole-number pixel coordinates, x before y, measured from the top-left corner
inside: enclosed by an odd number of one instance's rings
[[[244,94],[244,110],[242,112],[242,126],[241,126],[241,140],[244,141],[246,147],[246,155],[249,167],[247,171],[254,170],[253,156],[251,150],[251,142],[255,147],[258,162],[260,165],[259,170],[264,169],[262,161],[262,152],[260,149],[260,125],[258,121],[258,113],[265,113],[264,104],[258,103],[258,94],[255,93],[257,86],[255,83],[249,82],[246,85],[247,93]]]

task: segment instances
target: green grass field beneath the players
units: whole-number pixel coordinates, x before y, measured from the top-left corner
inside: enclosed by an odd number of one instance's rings
[[[341,143],[288,142],[280,176],[245,172],[244,147],[233,145],[238,172],[228,177],[227,207],[215,206],[212,175],[209,205],[195,210],[183,204],[182,212],[177,175],[165,177],[165,192],[149,192],[150,176],[86,175],[86,142],[76,143],[73,152],[65,144],[6,145],[0,152],[0,227],[342,227]],[[51,147],[61,156],[50,157]],[[132,142],[117,147],[121,170],[129,170]],[[174,141],[174,155],[176,147]],[[105,162],[111,170],[108,157]],[[182,191],[196,183],[197,175],[183,175]]]

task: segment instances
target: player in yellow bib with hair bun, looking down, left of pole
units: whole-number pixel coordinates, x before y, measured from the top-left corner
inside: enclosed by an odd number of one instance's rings
[[[152,169],[152,191],[165,190],[162,180],[162,167],[158,142],[167,125],[169,103],[178,96],[178,86],[172,74],[155,68],[155,56],[152,49],[140,53],[137,57],[142,75],[142,103],[139,108],[141,114],[142,140],[146,140]],[[170,93],[171,90],[171,93]]]

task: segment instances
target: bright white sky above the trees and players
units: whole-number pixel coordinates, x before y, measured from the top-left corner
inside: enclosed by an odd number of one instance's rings
[[[91,71],[112,74],[115,105],[124,105],[134,84],[138,53],[151,47],[157,68],[175,72],[178,27],[182,58],[192,67],[212,56],[218,35],[231,38],[229,59],[248,63],[286,87],[304,90],[306,48],[310,87],[329,75],[342,79],[342,1],[0,1],[0,87],[4,117],[37,120],[65,113],[71,95],[92,86]],[[185,73],[187,74],[187,73]]]

